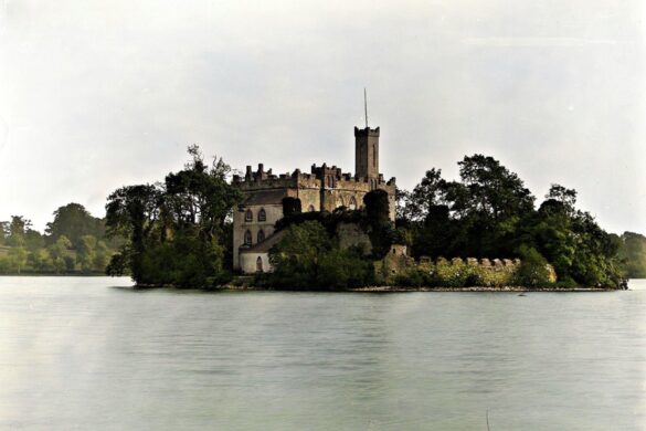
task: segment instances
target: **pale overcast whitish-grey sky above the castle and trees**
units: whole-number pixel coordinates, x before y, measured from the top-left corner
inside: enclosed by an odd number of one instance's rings
[[[197,143],[234,169],[352,171],[353,127],[410,189],[485,154],[646,233],[637,0],[0,0],[0,220],[162,180]]]

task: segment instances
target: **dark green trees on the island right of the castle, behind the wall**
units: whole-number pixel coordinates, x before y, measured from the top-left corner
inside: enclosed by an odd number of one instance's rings
[[[459,181],[432,169],[399,195],[398,225],[414,255],[530,256],[551,263],[563,283],[619,284],[621,242],[574,207],[574,190],[553,185],[537,210],[523,181],[498,160],[475,155],[458,165]]]

